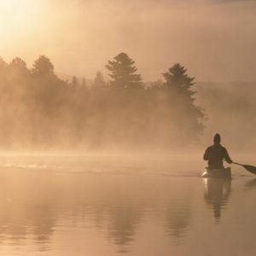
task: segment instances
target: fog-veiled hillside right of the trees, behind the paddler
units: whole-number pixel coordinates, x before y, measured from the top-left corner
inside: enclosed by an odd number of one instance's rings
[[[204,139],[215,131],[223,135],[224,143],[233,151],[255,151],[255,97],[256,84],[198,83],[198,103],[204,106],[207,117]]]

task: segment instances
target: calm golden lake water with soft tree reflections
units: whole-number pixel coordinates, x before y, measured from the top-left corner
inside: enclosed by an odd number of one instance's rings
[[[1,157],[0,255],[256,255],[256,177],[207,180],[204,165]]]

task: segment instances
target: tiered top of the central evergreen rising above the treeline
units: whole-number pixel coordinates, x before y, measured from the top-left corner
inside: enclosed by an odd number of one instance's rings
[[[120,53],[113,58],[113,61],[108,61],[106,66],[111,72],[109,76],[113,79],[110,81],[112,88],[125,89],[141,89],[142,78],[137,74],[137,67],[134,66],[135,61],[125,53]]]

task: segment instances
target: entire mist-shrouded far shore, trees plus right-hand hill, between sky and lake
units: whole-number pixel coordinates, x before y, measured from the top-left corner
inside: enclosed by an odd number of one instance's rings
[[[180,64],[145,83],[135,63],[120,53],[106,63],[109,78],[63,80],[44,55],[31,68],[2,60],[1,149],[173,154],[202,151],[216,132],[233,152],[255,148],[255,83],[197,82]]]

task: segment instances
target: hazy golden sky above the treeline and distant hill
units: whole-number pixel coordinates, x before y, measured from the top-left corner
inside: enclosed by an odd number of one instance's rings
[[[256,3],[220,0],[0,0],[0,55],[56,73],[107,76],[126,52],[144,80],[176,62],[197,80],[256,80]]]

